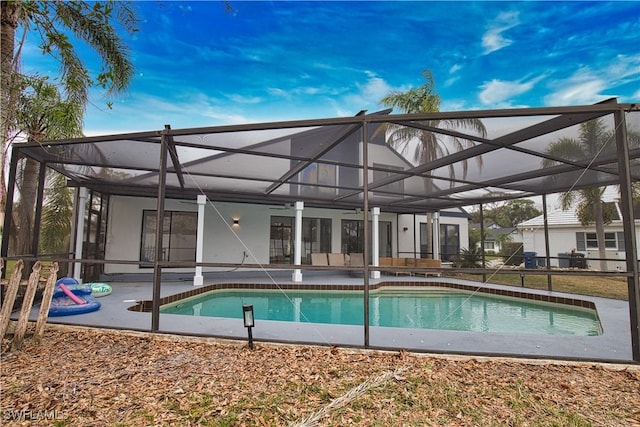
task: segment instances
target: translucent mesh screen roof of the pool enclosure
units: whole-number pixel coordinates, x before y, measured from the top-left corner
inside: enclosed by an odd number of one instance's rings
[[[171,129],[15,144],[26,155],[64,174],[72,186],[118,195],[165,196],[424,213],[619,182],[615,141],[597,158],[550,156],[549,144],[578,135],[579,125],[614,115],[640,122],[636,105],[615,100],[575,107],[523,108],[354,117]],[[465,126],[481,120],[487,136]],[[422,132],[440,141],[441,155],[411,157],[416,142],[399,153],[385,144],[384,129]],[[381,131],[382,129],[382,131]],[[387,132],[388,133],[388,132]],[[367,144],[362,144],[366,140]],[[458,150],[456,143],[471,141]],[[166,181],[159,185],[163,148]],[[640,148],[630,147],[631,160]],[[543,159],[554,166],[542,167]],[[632,180],[640,165],[630,162]],[[364,171],[367,174],[364,175]],[[363,180],[363,176],[367,176]]]

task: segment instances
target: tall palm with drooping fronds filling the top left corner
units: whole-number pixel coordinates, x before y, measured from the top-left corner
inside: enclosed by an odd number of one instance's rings
[[[39,45],[43,54],[51,55],[59,61],[59,81],[65,101],[79,106],[81,112],[84,112],[91,87],[102,87],[107,95],[113,95],[125,90],[133,78],[133,65],[129,60],[127,48],[116,31],[116,26],[128,33],[133,33],[136,31],[137,19],[128,3],[115,0],[100,2],[3,0],[0,5],[0,14],[2,19],[0,211],[4,212],[5,152],[11,136],[19,133],[16,126],[21,82],[18,68],[21,47],[27,34],[39,34]],[[16,31],[19,27],[23,28],[24,33],[16,46]],[[92,75],[82,63],[78,52],[69,40],[69,34],[87,43],[99,55],[102,68],[97,74]],[[37,174],[25,174],[24,178],[37,181]],[[35,187],[30,183],[23,184],[25,191],[29,188]]]

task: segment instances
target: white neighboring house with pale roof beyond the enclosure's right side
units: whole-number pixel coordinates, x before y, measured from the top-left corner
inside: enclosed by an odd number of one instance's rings
[[[626,270],[624,249],[624,233],[622,215],[619,202],[615,200],[615,193],[607,190],[603,197],[605,203],[611,203],[616,208],[616,217],[605,225],[605,246],[607,253],[607,270]],[[638,213],[635,217],[638,218]],[[596,238],[595,225],[580,224],[575,209],[563,211],[556,209],[547,215],[549,227],[549,252],[551,266],[568,267],[572,251],[586,258],[588,268],[600,269],[600,255]],[[536,256],[545,257],[544,217],[542,215],[524,221],[517,226],[522,234],[524,251],[536,252]],[[640,242],[640,223],[635,226],[636,243]],[[636,255],[637,258],[637,255]]]

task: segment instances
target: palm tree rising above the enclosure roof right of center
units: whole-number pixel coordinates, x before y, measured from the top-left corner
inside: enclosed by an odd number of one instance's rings
[[[380,100],[382,105],[398,109],[402,113],[435,113],[440,111],[440,96],[435,91],[435,82],[431,71],[424,70],[422,76],[426,82],[417,88],[409,89],[406,92],[392,92]],[[468,129],[478,136],[486,137],[487,129],[479,119],[455,119],[455,120],[429,120],[423,124],[442,129]],[[416,129],[407,126],[389,124],[380,127],[387,133],[387,142],[396,148],[400,153],[408,155],[417,164],[425,164],[444,157],[452,151],[461,151],[472,147],[474,142],[471,139],[464,139],[455,136],[445,136],[435,132]],[[418,142],[417,144],[415,142]],[[411,151],[413,150],[413,153]],[[482,168],[482,156],[476,156],[479,168]],[[462,162],[462,179],[467,176],[467,161]],[[456,178],[454,165],[449,165],[449,178]],[[426,193],[432,190],[431,180],[425,181]],[[431,224],[431,214],[427,214],[427,223]],[[429,227],[429,229],[432,229]],[[427,252],[433,254],[432,240],[427,241]]]

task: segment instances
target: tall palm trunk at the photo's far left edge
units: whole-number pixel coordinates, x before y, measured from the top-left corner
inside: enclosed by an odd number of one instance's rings
[[[13,53],[15,34],[18,28],[20,6],[15,1],[2,1],[0,4],[0,213],[4,214],[7,200],[5,182],[6,146],[9,129],[15,115],[16,88],[13,84]]]

